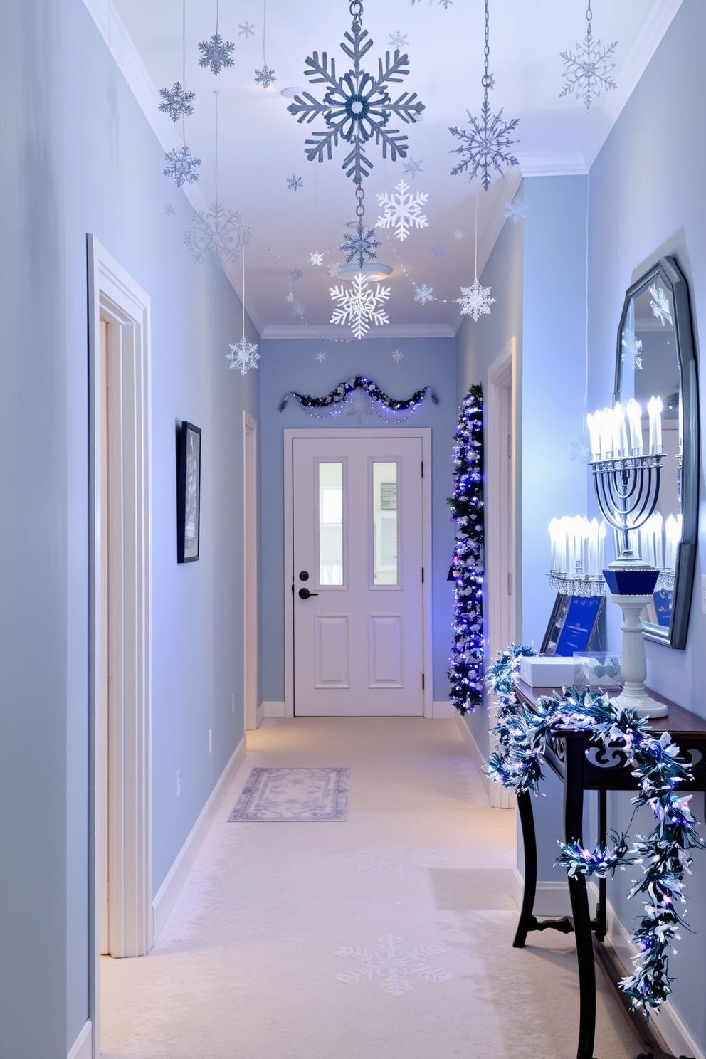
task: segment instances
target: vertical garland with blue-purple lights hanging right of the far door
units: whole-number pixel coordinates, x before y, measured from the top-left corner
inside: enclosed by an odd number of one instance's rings
[[[455,585],[449,680],[451,701],[461,716],[483,698],[483,389],[464,399],[453,450],[454,490],[449,498],[456,541],[449,579]]]

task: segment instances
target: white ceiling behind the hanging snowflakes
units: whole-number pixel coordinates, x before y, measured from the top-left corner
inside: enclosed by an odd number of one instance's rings
[[[174,126],[159,112],[159,89],[182,77],[182,0],[114,0],[114,7],[113,0],[85,3],[165,149],[170,149],[180,143],[181,123]],[[390,50],[390,35],[398,30],[406,34],[410,74],[399,90],[416,91],[427,108],[423,120],[404,130],[410,155],[423,167],[416,179],[406,179],[413,191],[429,193],[424,208],[429,228],[412,232],[404,243],[378,233],[383,243],[378,261],[394,268],[386,307],[390,334],[455,334],[460,316],[454,300],[459,287],[473,281],[476,204],[481,271],[504,222],[504,203],[522,174],[587,170],[680,4],[681,0],[594,0],[594,38],[603,43],[617,40],[613,76],[618,88],[586,111],[582,102],[559,95],[563,87],[559,53],[583,39],[585,0],[492,0],[491,106],[502,107],[505,120],[520,119],[520,142],[513,148],[520,166],[484,192],[465,175],[450,176],[457,160],[450,150],[458,141],[449,133],[450,125],[465,127],[467,110],[477,114],[482,104],[483,0],[453,0],[447,8],[436,0],[367,0],[363,25],[374,47],[364,65],[376,71],[378,57]],[[235,66],[215,77],[198,66],[198,41],[215,32],[216,0],[186,0],[185,84],[196,92],[195,113],[185,120],[186,143],[202,164],[198,183],[184,191],[196,209],[216,198],[217,89],[218,199],[240,212],[253,235],[247,251],[248,311],[265,336],[338,334],[341,328],[328,324],[329,287],[338,281],[330,280],[325,266],[315,268],[308,259],[316,245],[326,264],[343,259],[337,248],[355,216],[354,185],[341,168],[348,145],[339,145],[330,162],[308,162],[304,140],[322,125],[300,125],[287,111],[291,100],[280,90],[307,87],[305,59],[314,50],[334,56],[339,74],[348,68],[340,50],[342,35],[350,28],[348,4],[269,0],[266,54],[277,80],[267,89],[253,79],[255,68],[263,65],[263,0],[220,0],[219,32],[235,41]],[[255,30],[247,39],[238,32],[246,20]],[[310,88],[318,97],[321,89]],[[364,185],[372,227],[380,212],[376,194],[393,191],[402,178],[403,163],[383,162],[375,146],[368,157],[375,166]],[[296,192],[287,187],[287,177],[293,175],[303,181]],[[165,203],[179,194],[165,177]],[[463,239],[454,237],[457,230]],[[432,256],[434,244],[446,248],[442,256]],[[305,307],[304,318],[294,317],[287,302],[288,273],[295,264],[301,264],[304,276],[291,289]],[[227,272],[239,291],[240,267],[230,266]],[[437,300],[415,303],[415,283],[433,287]]]

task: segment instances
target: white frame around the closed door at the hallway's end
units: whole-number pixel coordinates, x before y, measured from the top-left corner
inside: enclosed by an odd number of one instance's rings
[[[421,561],[426,577],[421,586],[421,635],[424,672],[422,711],[433,716],[434,670],[432,651],[432,428],[287,428],[285,442],[285,717],[294,716],[294,441],[309,438],[418,437],[421,441],[423,475],[421,480]]]

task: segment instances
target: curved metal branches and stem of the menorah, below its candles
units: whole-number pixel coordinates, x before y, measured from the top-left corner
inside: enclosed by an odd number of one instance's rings
[[[662,453],[596,460],[591,472],[601,515],[621,536],[621,559],[637,559],[630,546],[630,531],[639,530],[657,506]]]

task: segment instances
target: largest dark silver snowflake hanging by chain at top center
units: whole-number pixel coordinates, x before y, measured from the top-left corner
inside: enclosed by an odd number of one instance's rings
[[[362,58],[373,47],[373,40],[367,38],[367,30],[360,23],[360,15],[354,17],[350,32],[346,32],[341,49],[352,61],[352,69],[343,76],[336,76],[336,59],[330,65],[326,52],[321,61],[319,53],[307,56],[305,75],[312,85],[324,84],[326,91],[320,103],[310,92],[303,91],[294,96],[294,102],[287,108],[294,114],[300,124],[310,124],[316,118],[323,119],[326,128],[314,132],[311,140],[305,142],[305,154],[310,162],[319,159],[324,161],[324,151],[331,159],[333,146],[338,146],[339,138],[351,144],[351,150],[343,160],[343,168],[347,177],[352,177],[360,184],[367,177],[373,163],[364,154],[368,140],[375,139],[382,145],[382,157],[387,151],[394,162],[399,155],[406,157],[406,136],[399,128],[391,128],[390,119],[394,115],[406,125],[414,123],[424,109],[423,103],[417,100],[417,93],[402,92],[396,98],[390,94],[388,88],[395,82],[405,77],[409,70],[409,59],[405,53],[395,51],[392,62],[390,52],[385,52],[384,62],[378,60],[378,75],[367,73],[361,68]],[[346,43],[347,41],[347,43]]]

